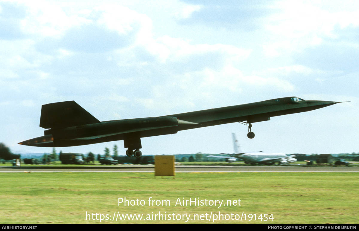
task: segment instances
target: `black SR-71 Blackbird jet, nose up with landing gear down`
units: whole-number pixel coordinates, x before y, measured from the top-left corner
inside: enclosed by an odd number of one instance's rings
[[[256,103],[213,108],[160,117],[120,119],[100,122],[75,101],[44,104],[40,127],[50,128],[44,136],[20,142],[36,147],[68,147],[123,140],[127,156],[139,158],[141,138],[174,134],[178,131],[225,123],[248,124],[248,138],[254,138],[252,123],[269,121],[278,115],[307,112],[336,103],[303,100],[298,97],[270,99]],[[135,151],[134,151],[135,150]]]

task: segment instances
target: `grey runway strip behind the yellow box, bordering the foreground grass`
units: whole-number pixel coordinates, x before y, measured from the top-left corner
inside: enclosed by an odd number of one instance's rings
[[[56,173],[56,172],[154,172],[154,166],[0,166],[0,173]],[[205,172],[331,172],[331,173],[359,173],[358,166],[176,166],[177,173],[205,173]]]

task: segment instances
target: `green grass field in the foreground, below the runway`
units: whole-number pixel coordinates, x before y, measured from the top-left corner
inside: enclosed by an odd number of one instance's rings
[[[100,223],[89,220],[86,212],[102,214],[105,220],[101,223],[112,224],[356,224],[359,221],[358,173],[177,173],[176,179],[154,179],[153,173],[1,173],[0,176],[2,224]],[[132,203],[136,199],[139,203],[144,200],[145,205],[118,205],[118,198],[124,197],[134,200]],[[150,197],[155,202],[158,200],[157,203],[169,200],[170,204],[149,205]],[[204,203],[205,199],[223,200],[223,204],[220,208],[218,203],[216,206],[193,205],[193,202],[191,206],[175,205],[178,198],[181,202],[182,198],[199,198]],[[227,200],[238,202],[238,199],[241,206],[224,205]],[[118,217],[112,221],[117,212],[143,214],[143,220]],[[159,213],[167,220],[158,220]],[[223,216],[218,217],[219,213]],[[249,214],[256,214],[257,219]],[[260,214],[262,221],[258,220]],[[269,214],[267,217],[273,214],[273,220],[264,221],[264,214]],[[215,215],[220,220],[213,222]],[[239,217],[242,221],[236,220]]]

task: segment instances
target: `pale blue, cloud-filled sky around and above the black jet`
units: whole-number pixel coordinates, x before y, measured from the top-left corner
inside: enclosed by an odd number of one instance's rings
[[[359,1],[0,1],[0,142],[43,136],[41,105],[99,121],[287,96],[350,101],[253,123],[142,138],[143,155],[359,152]],[[61,147],[103,154],[123,141]]]

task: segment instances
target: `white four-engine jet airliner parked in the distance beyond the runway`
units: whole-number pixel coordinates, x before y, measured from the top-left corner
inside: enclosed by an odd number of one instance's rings
[[[237,145],[237,138],[236,133],[232,133],[233,138],[233,146],[234,146],[234,154],[227,154],[227,153],[219,153],[219,154],[225,154],[229,156],[214,156],[209,155],[208,157],[216,157],[216,158],[225,158],[227,162],[234,162],[237,161],[237,158],[240,160],[244,160],[244,163],[246,164],[288,164],[288,163],[294,163],[297,161],[295,159],[295,155],[287,156],[284,153],[278,153],[278,152],[240,152],[239,147]]]

